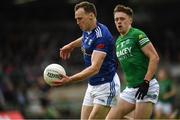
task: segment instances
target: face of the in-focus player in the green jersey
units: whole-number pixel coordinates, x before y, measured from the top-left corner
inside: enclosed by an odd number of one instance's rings
[[[114,22],[118,32],[124,35],[128,32],[132,19],[124,12],[116,12],[114,14]]]

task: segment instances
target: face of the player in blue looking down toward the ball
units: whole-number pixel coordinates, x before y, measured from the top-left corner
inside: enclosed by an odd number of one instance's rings
[[[91,29],[91,13],[86,13],[83,8],[79,8],[75,11],[75,19],[82,31]]]

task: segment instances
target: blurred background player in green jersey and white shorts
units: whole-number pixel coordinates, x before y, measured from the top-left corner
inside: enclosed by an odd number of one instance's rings
[[[174,119],[173,102],[176,95],[176,85],[165,67],[159,69],[157,77],[160,89],[159,100],[154,107],[155,119]]]

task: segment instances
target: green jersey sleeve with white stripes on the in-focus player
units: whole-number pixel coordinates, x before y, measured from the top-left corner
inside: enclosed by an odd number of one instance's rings
[[[146,44],[148,44],[150,42],[149,38],[142,31],[138,32],[137,39],[138,39],[140,48],[144,47]]]

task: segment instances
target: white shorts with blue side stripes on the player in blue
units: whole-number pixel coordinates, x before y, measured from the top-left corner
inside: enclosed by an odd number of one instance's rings
[[[93,106],[94,104],[100,104],[104,106],[114,106],[117,103],[119,94],[120,80],[116,73],[112,82],[96,86],[88,84],[83,105]]]

